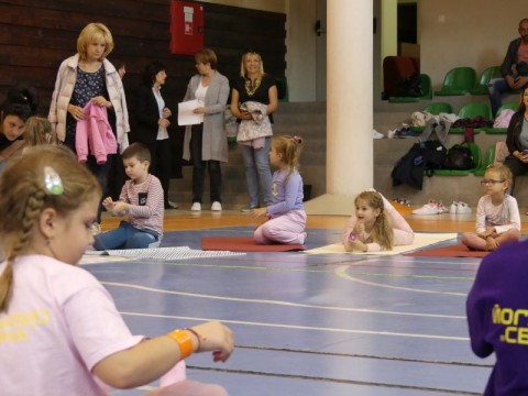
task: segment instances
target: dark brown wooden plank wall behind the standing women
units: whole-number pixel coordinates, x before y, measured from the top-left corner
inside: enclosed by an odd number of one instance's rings
[[[253,48],[262,54],[267,73],[285,75],[285,14],[200,4],[205,10],[205,46],[217,53],[220,73],[230,79],[237,77],[243,51]],[[37,89],[40,112],[47,116],[61,62],[77,52],[78,34],[87,23],[102,22],[114,41],[109,59],[127,64],[123,84],[134,140],[135,92],[144,66],[158,61],[167,67],[163,95],[173,111],[196,73],[193,56],[170,54],[169,11],[169,0],[0,0],[0,103],[10,86],[25,82]],[[173,131],[175,162],[180,164],[183,129]]]

